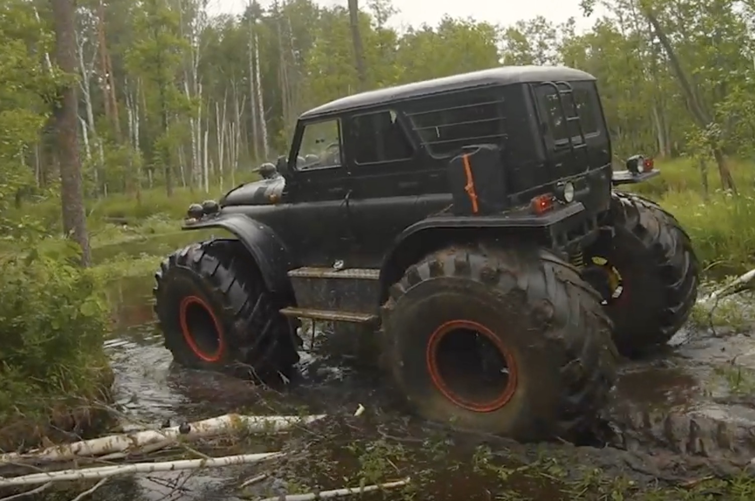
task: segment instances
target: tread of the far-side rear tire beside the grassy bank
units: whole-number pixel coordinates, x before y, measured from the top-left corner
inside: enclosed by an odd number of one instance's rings
[[[680,330],[698,297],[700,263],[689,235],[673,214],[635,193],[613,192],[612,226],[623,226],[652,253],[652,269],[663,278],[665,304],[655,330],[634,332],[635,349],[666,344]]]

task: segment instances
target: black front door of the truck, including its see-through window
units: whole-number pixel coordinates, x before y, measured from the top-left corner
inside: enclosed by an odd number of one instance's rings
[[[332,266],[353,241],[342,144],[338,118],[304,122],[294,134],[288,220],[291,247],[304,266]]]

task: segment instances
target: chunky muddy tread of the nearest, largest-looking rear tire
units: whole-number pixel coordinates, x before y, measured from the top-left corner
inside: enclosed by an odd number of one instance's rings
[[[533,255],[534,254],[534,255]],[[536,260],[537,265],[532,262]],[[529,284],[541,281],[550,297],[560,304],[556,310],[569,312],[568,322],[584,328],[550,328],[547,338],[558,343],[565,354],[560,373],[565,391],[556,436],[567,438],[585,432],[608,402],[615,381],[618,352],[612,343],[611,321],[600,305],[600,297],[583,281],[578,270],[544,249],[529,253],[486,247],[455,247],[436,252],[410,266],[401,281],[390,289],[384,304],[384,324],[402,296],[421,281],[439,276],[463,277],[485,284],[492,294],[528,294]]]

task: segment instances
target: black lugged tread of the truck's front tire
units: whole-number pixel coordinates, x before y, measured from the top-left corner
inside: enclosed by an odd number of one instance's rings
[[[214,297],[221,298],[223,312],[215,312],[227,322],[227,343],[233,352],[233,373],[248,373],[255,379],[287,372],[299,356],[291,340],[288,320],[278,310],[282,308],[267,292],[253,263],[242,263],[246,251],[241,242],[233,239],[214,239],[190,244],[170,254],[155,273],[154,311],[165,333],[165,319],[161,318],[161,288],[163,278],[171,269],[190,270],[202,278]],[[250,336],[249,333],[254,333]],[[165,335],[165,347],[181,364],[193,365],[180,355],[179,336]]]

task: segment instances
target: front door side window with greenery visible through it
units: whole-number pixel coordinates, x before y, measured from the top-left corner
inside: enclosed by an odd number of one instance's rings
[[[296,166],[300,171],[341,167],[341,127],[337,119],[304,125]]]

